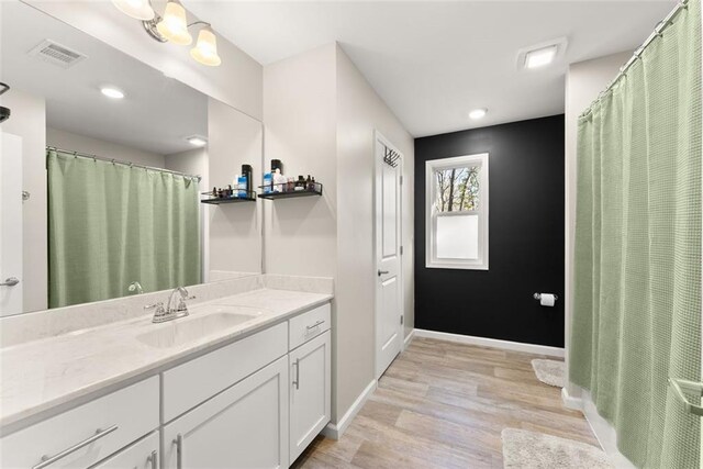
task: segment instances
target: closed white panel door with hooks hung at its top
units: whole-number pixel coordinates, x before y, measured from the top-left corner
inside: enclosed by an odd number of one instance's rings
[[[384,161],[395,152],[395,166]],[[376,133],[376,377],[379,378],[403,345],[401,281],[402,155]]]

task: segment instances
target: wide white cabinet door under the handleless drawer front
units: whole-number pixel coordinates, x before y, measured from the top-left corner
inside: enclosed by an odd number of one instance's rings
[[[163,467],[288,468],[288,358],[281,357],[166,425]]]

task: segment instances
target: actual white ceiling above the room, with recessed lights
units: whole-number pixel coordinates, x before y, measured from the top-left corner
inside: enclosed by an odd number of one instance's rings
[[[567,65],[636,48],[676,0],[185,3],[263,65],[338,41],[424,136],[563,112]],[[521,48],[562,36],[559,63],[517,70]],[[473,108],[489,114],[469,121]]]

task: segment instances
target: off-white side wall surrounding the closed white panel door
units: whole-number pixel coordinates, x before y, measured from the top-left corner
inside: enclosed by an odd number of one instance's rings
[[[376,378],[373,131],[383,134],[404,156],[403,302],[405,327],[409,331],[413,327],[414,141],[339,46],[336,48],[336,58],[338,215],[334,345],[336,415],[342,416]]]

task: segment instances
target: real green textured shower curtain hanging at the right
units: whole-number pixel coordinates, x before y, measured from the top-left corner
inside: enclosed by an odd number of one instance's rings
[[[579,121],[570,381],[636,466],[699,468],[701,22],[691,0]]]

